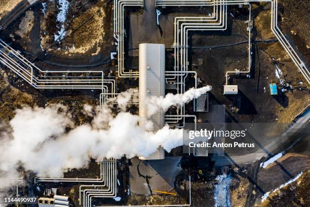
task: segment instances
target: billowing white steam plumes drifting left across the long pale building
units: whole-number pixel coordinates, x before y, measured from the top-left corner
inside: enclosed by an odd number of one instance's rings
[[[158,110],[168,110],[182,105],[211,90],[211,87],[190,89],[183,95],[168,94],[151,97],[150,115]],[[130,95],[135,94],[135,95]],[[0,184],[12,185],[10,178],[20,177],[18,166],[36,172],[39,177],[63,177],[72,168],[87,167],[91,158],[147,157],[159,146],[166,151],[182,145],[182,130],[170,129],[168,125],[154,132],[139,126],[147,121],[126,112],[128,103],[137,100],[137,90],[131,89],[119,95],[115,101],[119,113],[112,113],[112,105],[102,107],[84,106],[84,114],[92,117],[90,124],[75,126],[68,109],[62,105],[46,108],[24,107],[16,110],[10,128],[0,133]]]

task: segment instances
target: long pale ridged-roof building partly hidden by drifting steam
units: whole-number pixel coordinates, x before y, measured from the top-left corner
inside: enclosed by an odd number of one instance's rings
[[[165,125],[165,113],[147,116],[146,99],[165,96],[165,45],[144,43],[139,45],[139,116],[153,122],[154,131]],[[143,123],[139,123],[143,127]],[[159,148],[143,160],[165,159],[165,150]]]

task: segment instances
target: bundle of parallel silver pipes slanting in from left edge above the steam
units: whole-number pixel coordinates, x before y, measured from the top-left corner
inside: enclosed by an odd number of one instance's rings
[[[104,79],[102,71],[43,71],[2,40],[0,63],[36,89],[100,89],[106,97],[116,90],[115,80]]]

